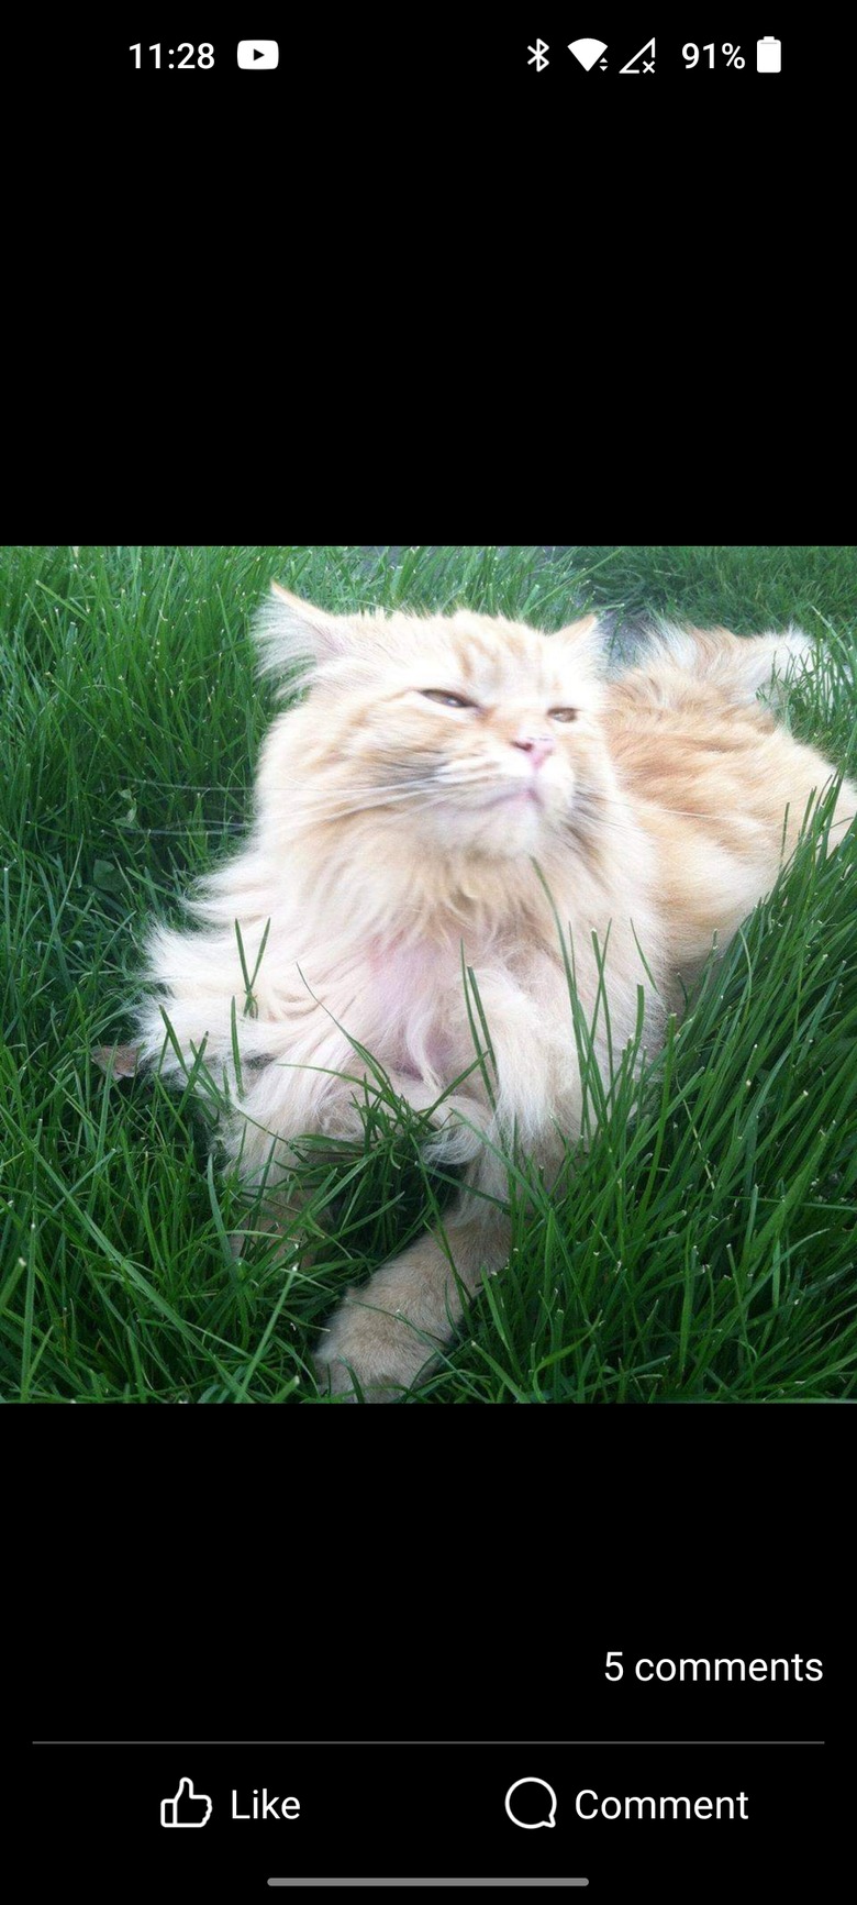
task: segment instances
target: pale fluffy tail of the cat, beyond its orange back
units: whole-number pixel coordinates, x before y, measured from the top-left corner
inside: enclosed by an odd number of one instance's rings
[[[661,623],[646,663],[657,667],[663,686],[672,671],[710,680],[729,701],[781,701],[785,692],[815,667],[815,648],[800,629],[785,634],[729,634],[727,629],[680,629]]]

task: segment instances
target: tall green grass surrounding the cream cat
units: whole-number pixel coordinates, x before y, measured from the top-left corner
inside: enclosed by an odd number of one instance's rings
[[[316,1402],[337,1293],[444,1194],[419,1118],[307,1143],[310,1271],[211,1160],[215,1107],[107,1080],[152,911],[242,838],[272,701],[249,613],[276,575],[331,608],[451,606],[558,627],[653,612],[825,644],[794,730],[846,766],[851,549],[4,549],[0,1393],[13,1402]],[[823,823],[823,815],[817,825]],[[510,1269],[413,1404],[840,1400],[857,1381],[855,842],[811,844],[644,1078],[592,1101],[547,1196],[510,1166]]]

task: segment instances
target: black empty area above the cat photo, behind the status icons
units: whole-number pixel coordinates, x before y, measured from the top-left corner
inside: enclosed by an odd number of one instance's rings
[[[352,507],[394,486],[417,522],[419,495],[448,509],[467,488],[470,531],[474,495],[491,526],[539,493],[539,533],[558,497],[568,528],[598,493],[613,522],[617,497],[638,520],[663,503],[663,535],[678,486],[707,505],[697,539],[815,533],[794,497],[815,503],[849,362],[855,34],[781,25],[783,74],[686,72],[688,38],[747,53],[771,25],[726,17],[613,34],[600,15],[617,59],[655,30],[655,76],[630,78],[568,51],[537,74],[537,36],[592,25],[541,8],[512,27],[17,13],[0,63],[15,495],[65,505],[72,486],[99,511],[107,486],[175,520],[204,503],[215,539],[236,491],[255,535],[272,499],[291,531],[345,490]],[[276,72],[234,65],[253,30],[280,40]],[[130,46],[158,40],[211,40],[215,67],[137,72]]]

